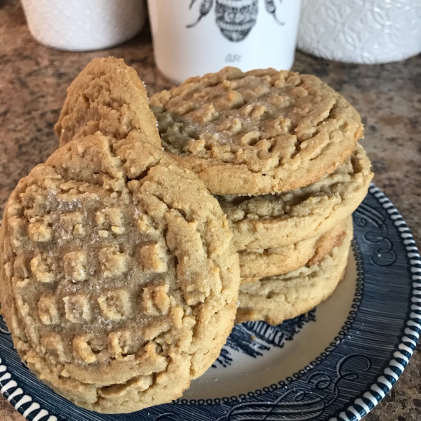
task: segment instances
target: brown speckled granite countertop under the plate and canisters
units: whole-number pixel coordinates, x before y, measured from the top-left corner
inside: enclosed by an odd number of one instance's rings
[[[18,1],[0,0],[0,215],[17,184],[58,146],[53,126],[66,88],[95,57],[133,66],[149,95],[173,85],[154,64],[148,28],[132,41],[91,53],[65,53],[32,39]],[[396,204],[421,245],[421,56],[387,65],[347,65],[297,53],[293,70],[313,73],[363,116],[363,145],[375,183]],[[367,421],[421,419],[421,347]],[[23,420],[0,396],[0,420]]]

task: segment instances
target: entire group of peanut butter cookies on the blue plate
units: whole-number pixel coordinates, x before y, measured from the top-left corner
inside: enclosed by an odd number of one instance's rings
[[[1,314],[56,392],[102,413],[169,402],[235,318],[280,323],[333,292],[372,177],[338,93],[226,68],[151,99],[160,137],[123,60],[67,92],[60,148],[0,227]]]

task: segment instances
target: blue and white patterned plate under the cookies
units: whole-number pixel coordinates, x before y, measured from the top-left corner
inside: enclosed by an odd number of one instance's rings
[[[33,421],[355,421],[389,392],[421,329],[421,259],[377,187],[354,213],[345,278],[326,302],[279,326],[235,326],[182,399],[126,415],[74,406],[21,363],[0,323],[1,393]]]

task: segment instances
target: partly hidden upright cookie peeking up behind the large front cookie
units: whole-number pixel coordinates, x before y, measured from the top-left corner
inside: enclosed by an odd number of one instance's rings
[[[121,58],[95,58],[81,71],[67,88],[55,125],[60,146],[97,131],[116,140],[137,135],[161,147],[145,86]]]

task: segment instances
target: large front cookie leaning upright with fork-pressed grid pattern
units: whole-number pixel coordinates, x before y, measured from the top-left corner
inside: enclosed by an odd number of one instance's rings
[[[97,133],[36,166],[7,203],[0,258],[20,356],[90,410],[181,396],[234,323],[227,220],[194,173],[146,143]]]

